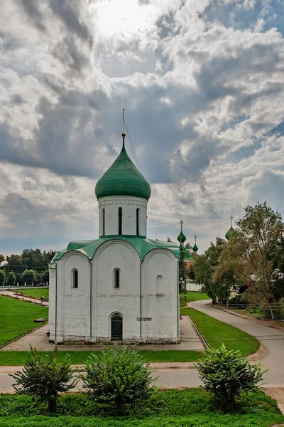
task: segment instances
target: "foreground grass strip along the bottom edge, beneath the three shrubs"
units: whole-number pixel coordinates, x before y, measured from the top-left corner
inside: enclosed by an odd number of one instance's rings
[[[106,416],[87,394],[58,399],[57,416],[48,416],[45,405],[30,396],[2,395],[1,427],[271,427],[284,421],[276,402],[258,391],[239,399],[241,413],[216,411],[202,389],[160,391],[146,408],[131,406],[129,416]]]

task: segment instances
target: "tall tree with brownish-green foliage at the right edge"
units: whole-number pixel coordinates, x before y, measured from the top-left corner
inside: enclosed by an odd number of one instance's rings
[[[284,232],[282,218],[266,202],[246,206],[245,215],[236,222],[234,237],[222,251],[214,280],[234,270],[234,275],[247,287],[244,297],[270,310],[274,318],[275,264],[273,257]]]

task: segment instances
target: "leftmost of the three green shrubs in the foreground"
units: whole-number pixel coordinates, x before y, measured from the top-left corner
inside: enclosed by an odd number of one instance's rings
[[[23,371],[9,374],[16,380],[13,387],[17,393],[29,394],[40,401],[48,402],[48,411],[51,413],[56,412],[58,394],[72,389],[77,384],[77,379],[72,379],[69,354],[66,354],[62,362],[57,362],[56,353],[55,348],[50,356],[41,357],[36,349],[31,347]]]

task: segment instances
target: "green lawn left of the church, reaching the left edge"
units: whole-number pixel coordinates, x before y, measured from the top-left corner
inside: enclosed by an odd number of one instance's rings
[[[0,345],[43,325],[39,317],[48,320],[48,307],[0,295]]]

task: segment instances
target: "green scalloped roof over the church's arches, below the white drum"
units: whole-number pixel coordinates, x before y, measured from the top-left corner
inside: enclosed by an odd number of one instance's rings
[[[141,260],[145,258],[146,253],[152,251],[155,248],[170,249],[170,251],[172,251],[177,258],[179,258],[180,256],[178,245],[173,242],[156,241],[143,236],[122,235],[102,236],[94,241],[72,241],[68,244],[67,249],[65,249],[64,251],[59,251],[53,257],[52,262],[54,263],[56,260],[60,260],[60,258],[62,258],[62,256],[67,251],[80,251],[85,253],[89,259],[92,259],[94,253],[97,251],[97,248],[99,248],[102,243],[111,240],[121,240],[130,243],[138,251]]]

